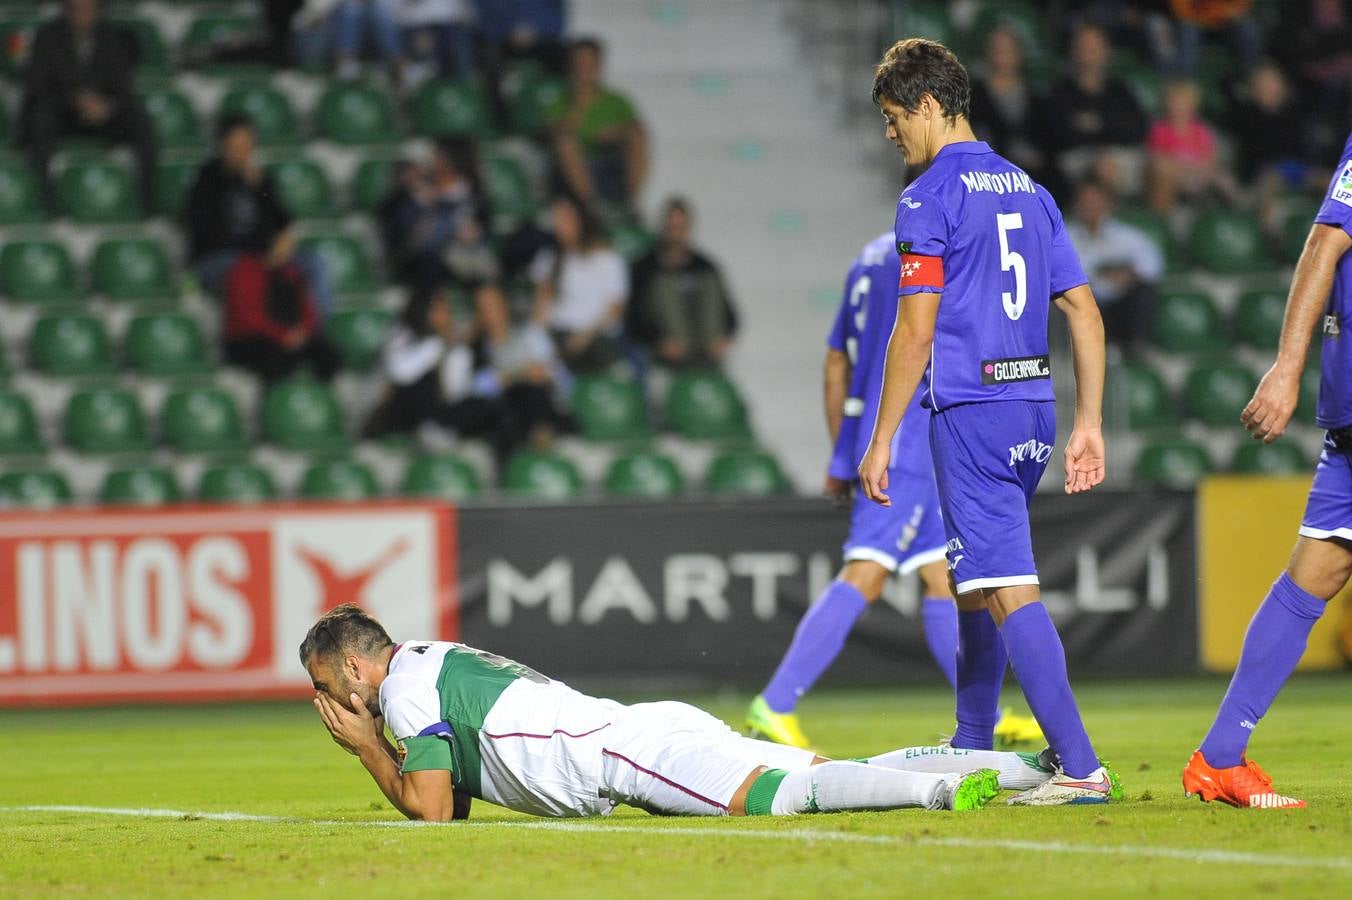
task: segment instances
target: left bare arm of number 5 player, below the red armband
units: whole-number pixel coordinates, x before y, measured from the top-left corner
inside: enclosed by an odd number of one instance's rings
[[[892,436],[902,424],[902,416],[925,374],[925,366],[929,365],[938,299],[937,293],[909,295],[898,308],[896,324],[887,342],[883,396],[877,403],[877,419],[873,420],[868,453],[859,464],[859,481],[864,495],[884,507],[892,505],[884,493],[887,469],[892,462]]]

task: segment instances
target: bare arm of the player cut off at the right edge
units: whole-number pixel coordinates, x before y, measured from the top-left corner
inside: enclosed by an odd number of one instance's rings
[[[1333,289],[1338,259],[1352,247],[1352,236],[1337,226],[1315,224],[1295,264],[1291,293],[1282,319],[1276,362],[1263,376],[1240,420],[1256,439],[1272,443],[1286,432],[1301,399],[1301,372],[1310,351],[1310,335]]]

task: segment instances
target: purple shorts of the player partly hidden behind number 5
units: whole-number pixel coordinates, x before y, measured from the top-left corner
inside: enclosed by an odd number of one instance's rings
[[[888,476],[891,507],[880,507],[863,493],[854,497],[845,562],[867,559],[888,572],[909,574],[944,558],[944,518],[938,511],[934,476],[896,472]]]

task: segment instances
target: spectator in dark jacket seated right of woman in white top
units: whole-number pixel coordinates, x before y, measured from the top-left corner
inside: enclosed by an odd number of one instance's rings
[[[737,332],[737,311],[718,266],[690,239],[690,205],[672,197],[661,239],[634,266],[626,330],[665,365],[718,366]]]

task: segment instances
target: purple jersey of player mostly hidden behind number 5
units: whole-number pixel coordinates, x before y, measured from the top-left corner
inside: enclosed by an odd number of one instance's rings
[[[877,418],[877,401],[883,393],[883,373],[887,368],[887,342],[896,324],[896,280],[900,261],[892,246],[891,232],[884,232],[864,245],[854,265],[845,277],[836,326],[826,339],[827,346],[849,357],[849,397],[845,415],[831,453],[830,474],[848,481],[868,451]],[[934,477],[934,464],[929,449],[929,412],[921,407],[921,391],[906,407],[902,427],[892,438],[892,472],[915,474],[926,480]]]

